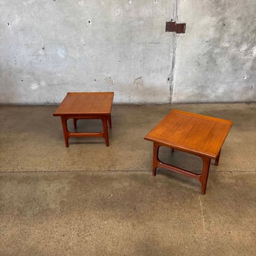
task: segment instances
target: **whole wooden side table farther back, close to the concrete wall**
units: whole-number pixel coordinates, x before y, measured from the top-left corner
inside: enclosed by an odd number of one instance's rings
[[[103,137],[109,146],[108,126],[111,128],[113,92],[68,92],[53,116],[61,117],[64,139],[68,147],[70,137]],[[74,128],[78,119],[101,119],[102,132],[69,132],[67,121],[73,119]]]

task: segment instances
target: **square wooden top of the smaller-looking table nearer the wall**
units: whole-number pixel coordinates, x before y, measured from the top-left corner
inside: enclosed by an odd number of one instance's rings
[[[113,97],[112,91],[68,92],[53,115],[108,115],[111,113]]]

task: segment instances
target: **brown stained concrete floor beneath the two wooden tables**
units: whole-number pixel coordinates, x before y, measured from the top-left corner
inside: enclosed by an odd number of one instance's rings
[[[0,255],[256,255],[256,104],[114,105],[109,147],[68,148],[56,108],[0,106]],[[189,177],[152,176],[143,136],[171,109],[234,122],[205,195]],[[201,170],[195,156],[160,158]]]

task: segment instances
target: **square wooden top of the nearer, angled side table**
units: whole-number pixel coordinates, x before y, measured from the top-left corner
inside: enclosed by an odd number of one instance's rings
[[[232,124],[229,120],[173,109],[144,139],[215,159]]]

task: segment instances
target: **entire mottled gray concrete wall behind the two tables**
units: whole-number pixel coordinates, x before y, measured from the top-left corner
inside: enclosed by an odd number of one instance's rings
[[[0,103],[255,101],[255,13],[255,0],[0,0]],[[171,19],[186,33],[166,33]]]

